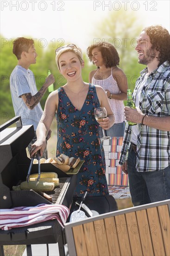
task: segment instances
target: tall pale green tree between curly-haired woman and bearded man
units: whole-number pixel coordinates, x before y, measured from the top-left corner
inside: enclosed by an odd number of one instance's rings
[[[120,68],[127,76],[128,87],[134,89],[139,72],[145,67],[138,63],[135,51],[136,41],[144,25],[134,11],[112,11],[105,20],[101,20],[94,30],[92,44],[109,42],[118,51]]]

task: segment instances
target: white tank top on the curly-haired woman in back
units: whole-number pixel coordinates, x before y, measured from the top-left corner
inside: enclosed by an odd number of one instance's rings
[[[99,70],[99,69],[98,69]],[[97,74],[98,70],[95,74]],[[95,76],[94,74],[94,76]],[[109,90],[111,94],[120,94],[120,88],[118,87],[117,82],[114,80],[112,75],[112,69],[111,69],[111,75],[103,80],[97,80],[93,76],[92,78],[92,84],[94,85],[100,85],[104,90]],[[115,123],[121,123],[125,121],[125,114],[124,114],[124,103],[120,100],[115,99],[108,99],[110,106],[113,110]]]

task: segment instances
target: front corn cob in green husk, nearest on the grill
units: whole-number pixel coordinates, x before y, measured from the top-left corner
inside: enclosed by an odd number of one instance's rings
[[[54,183],[52,182],[39,182],[36,186],[37,181],[21,182],[20,189],[33,189],[35,191],[51,191],[54,189]]]

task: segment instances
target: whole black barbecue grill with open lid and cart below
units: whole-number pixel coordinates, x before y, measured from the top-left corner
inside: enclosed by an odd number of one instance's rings
[[[9,128],[16,123],[16,127]],[[41,203],[62,204],[71,207],[76,187],[76,175],[67,175],[51,163],[41,164],[42,172],[56,172],[60,184],[53,191],[52,202],[33,190],[13,191],[12,187],[25,181],[31,159],[26,147],[34,137],[32,125],[22,126],[21,118],[15,117],[0,127],[0,209],[19,206],[36,206]],[[38,173],[38,165],[33,164],[31,174]],[[57,220],[50,220],[22,228],[0,229],[0,255],[4,255],[3,245],[25,244],[27,255],[31,255],[31,244],[57,243],[60,255],[64,252],[64,235]]]

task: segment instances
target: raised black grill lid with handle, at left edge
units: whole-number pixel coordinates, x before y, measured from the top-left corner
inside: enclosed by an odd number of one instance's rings
[[[16,124],[16,127],[8,128]],[[20,116],[0,126],[0,208],[12,207],[10,188],[18,178],[17,163],[29,163],[26,147],[34,137],[33,125],[22,126]]]

